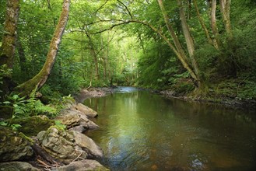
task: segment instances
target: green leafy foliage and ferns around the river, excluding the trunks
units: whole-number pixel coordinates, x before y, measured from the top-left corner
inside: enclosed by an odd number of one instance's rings
[[[0,4],[1,33],[2,23],[5,20],[5,3],[0,2]],[[163,4],[178,40],[188,54],[177,1],[164,1]],[[61,10],[61,0],[51,1],[49,4],[47,1],[21,1],[20,5],[13,73],[6,66],[2,66],[0,86],[3,84],[3,78],[11,74],[13,81],[19,84],[40,71]],[[81,87],[88,87],[90,82],[92,86],[139,85],[153,89],[176,89],[179,93],[191,92],[195,88],[189,81],[191,78],[188,72],[176,58],[176,54],[170,50],[158,33],[139,23],[115,26],[108,30],[113,24],[131,18],[138,19],[160,30],[160,33],[174,44],[157,1],[124,1],[124,5],[117,1],[106,1],[106,3],[75,1],[72,4],[68,26],[62,37],[54,68],[47,83],[40,89],[43,103],[51,101],[57,105],[57,108],[61,108],[62,103],[65,103],[62,96],[77,92]],[[242,99],[254,98],[253,86],[256,80],[254,7],[255,3],[251,0],[232,2],[230,17],[233,37],[230,37],[226,34],[218,6],[216,22],[221,44],[219,50],[216,50],[206,43],[205,33],[198,21],[195,8],[190,10],[188,5],[184,4],[184,11],[190,14],[188,26],[195,42],[195,59],[199,65],[200,78],[206,86],[212,86],[217,96],[230,94]],[[198,8],[212,36],[207,3],[198,1]],[[108,31],[94,34],[101,30]],[[191,60],[188,58],[187,61],[191,66]],[[96,68],[99,78],[96,78]],[[225,81],[230,78],[239,82],[243,80],[243,83]],[[226,87],[223,84],[226,84]],[[0,89],[0,93],[1,91]],[[12,95],[2,105],[12,107],[14,117],[40,113],[54,117],[57,114],[51,106],[45,106],[36,99],[35,94],[29,99]]]

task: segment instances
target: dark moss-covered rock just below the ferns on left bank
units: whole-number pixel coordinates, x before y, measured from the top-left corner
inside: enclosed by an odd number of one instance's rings
[[[50,120],[48,117],[42,115],[14,119],[10,121],[10,124],[20,124],[21,127],[18,128],[19,132],[23,132],[27,136],[36,136],[40,131],[45,131],[54,125],[54,120]]]

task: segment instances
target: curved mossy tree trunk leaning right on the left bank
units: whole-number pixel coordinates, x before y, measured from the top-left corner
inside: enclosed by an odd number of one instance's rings
[[[46,61],[40,72],[27,82],[16,87],[15,91],[20,92],[22,96],[28,96],[33,89],[40,89],[44,86],[48,76],[51,74],[51,68],[54,65],[58,53],[58,47],[61,44],[61,37],[64,33],[65,26],[68,23],[68,11],[70,0],[64,0],[62,6],[61,16],[56,26],[54,36],[51,39],[50,48],[47,54]]]

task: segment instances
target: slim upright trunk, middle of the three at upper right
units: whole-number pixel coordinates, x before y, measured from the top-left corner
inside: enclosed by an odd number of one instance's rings
[[[219,49],[219,32],[218,27],[216,25],[216,0],[212,0],[211,2],[211,26],[212,26],[212,34],[213,34],[213,46],[216,49]]]

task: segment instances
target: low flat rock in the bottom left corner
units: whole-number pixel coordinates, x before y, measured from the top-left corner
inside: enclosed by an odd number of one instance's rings
[[[1,170],[8,170],[8,171],[16,171],[16,170],[30,170],[30,171],[40,171],[30,165],[27,162],[0,162]]]

